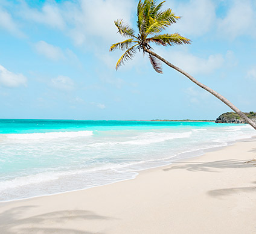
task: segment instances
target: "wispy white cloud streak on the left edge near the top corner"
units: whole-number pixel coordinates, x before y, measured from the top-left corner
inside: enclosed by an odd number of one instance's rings
[[[14,23],[11,14],[7,13],[0,8],[0,27],[6,29],[11,32],[11,34],[16,35],[18,37],[25,37],[24,33],[18,28],[18,25]]]

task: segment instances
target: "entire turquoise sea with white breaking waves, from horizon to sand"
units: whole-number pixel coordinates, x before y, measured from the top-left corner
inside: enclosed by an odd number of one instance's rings
[[[132,179],[253,135],[210,122],[0,120],[0,201]]]

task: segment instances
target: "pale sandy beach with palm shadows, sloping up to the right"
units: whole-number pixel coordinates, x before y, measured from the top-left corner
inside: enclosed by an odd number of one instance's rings
[[[0,233],[256,233],[255,159],[252,138],[136,179],[0,203]]]

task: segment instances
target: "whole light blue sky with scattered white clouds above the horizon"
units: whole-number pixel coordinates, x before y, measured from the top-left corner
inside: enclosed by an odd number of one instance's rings
[[[0,119],[214,120],[224,103],[139,52],[115,70],[124,40],[114,20],[136,31],[136,0],[0,0]],[[256,111],[256,1],[167,0],[191,45],[154,51],[242,111]]]

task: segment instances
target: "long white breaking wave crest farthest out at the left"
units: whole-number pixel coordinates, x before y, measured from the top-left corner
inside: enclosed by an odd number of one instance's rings
[[[88,137],[93,135],[92,131],[77,131],[77,132],[46,132],[34,134],[6,134],[10,139],[19,140],[40,140],[40,139],[56,139],[56,138],[72,138],[72,137]]]

